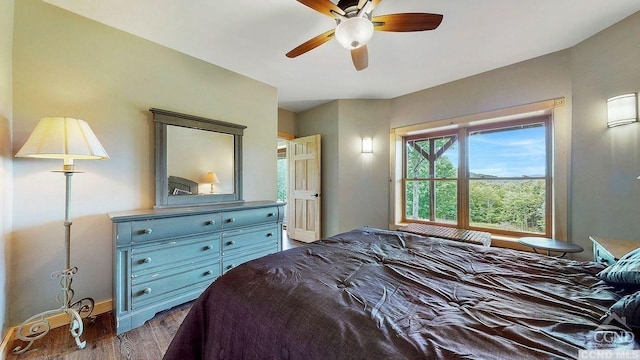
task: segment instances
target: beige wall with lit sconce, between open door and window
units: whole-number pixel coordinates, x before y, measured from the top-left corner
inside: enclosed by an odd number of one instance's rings
[[[297,135],[322,135],[322,236],[388,227],[390,105],[338,100],[298,114]],[[362,154],[363,137],[373,154]]]

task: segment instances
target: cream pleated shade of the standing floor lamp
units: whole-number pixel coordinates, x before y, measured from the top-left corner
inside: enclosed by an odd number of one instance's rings
[[[86,121],[67,117],[42,118],[16,156],[62,159],[69,165],[74,159],[109,158]]]

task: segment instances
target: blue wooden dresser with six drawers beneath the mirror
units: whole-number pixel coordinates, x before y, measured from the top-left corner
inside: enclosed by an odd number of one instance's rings
[[[218,276],[282,250],[284,203],[136,210],[113,222],[113,306],[122,334],[197,298]]]

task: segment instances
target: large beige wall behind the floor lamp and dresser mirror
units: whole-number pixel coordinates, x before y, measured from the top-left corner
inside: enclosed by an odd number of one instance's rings
[[[14,33],[14,153],[41,117],[65,115],[87,120],[111,157],[78,161],[73,176],[76,298],[111,298],[107,213],[154,205],[150,107],[246,125],[245,200],[275,200],[275,88],[36,0],[16,2]],[[64,266],[64,176],[50,170],[61,166],[14,161],[12,324],[59,306],[49,274]]]

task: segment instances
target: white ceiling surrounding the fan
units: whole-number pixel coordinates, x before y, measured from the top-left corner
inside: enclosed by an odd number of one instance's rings
[[[335,39],[285,57],[335,27],[296,0],[45,1],[273,85],[279,106],[295,112],[334,99],[391,99],[566,49],[640,11],[638,0],[385,0],[374,15],[444,20],[434,31],[376,32],[369,67],[358,72]]]

